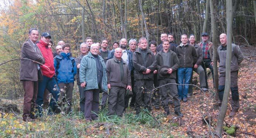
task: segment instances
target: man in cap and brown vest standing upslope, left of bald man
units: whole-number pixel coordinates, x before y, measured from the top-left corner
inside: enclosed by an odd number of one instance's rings
[[[207,81],[207,72],[206,68],[209,68],[212,72],[212,80],[214,80],[214,71],[213,71],[213,57],[212,57],[212,52],[213,52],[213,44],[212,42],[208,41],[209,40],[209,35],[208,33],[202,33],[202,42],[198,43],[197,45],[200,46],[203,50],[203,61],[202,61],[202,67],[204,68],[205,72],[205,84],[206,88],[209,89],[208,86],[208,81]],[[213,81],[214,82],[214,81]]]

